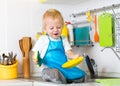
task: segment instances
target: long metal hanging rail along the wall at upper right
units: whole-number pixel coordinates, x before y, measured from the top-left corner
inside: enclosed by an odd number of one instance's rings
[[[110,10],[112,7],[114,8],[119,8],[120,7],[120,4],[112,4],[110,6],[107,6],[107,7],[102,7],[102,8],[96,8],[96,9],[92,9],[92,10],[89,10],[91,13],[94,13],[94,12],[100,12],[100,11],[105,11],[105,10]],[[78,16],[83,16],[83,15],[86,15],[86,12],[87,11],[84,11],[84,12],[80,12],[80,13],[76,13],[76,14],[71,14],[71,16],[73,17],[78,17]]]

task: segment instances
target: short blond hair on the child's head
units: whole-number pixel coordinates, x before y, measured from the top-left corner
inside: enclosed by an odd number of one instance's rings
[[[61,25],[63,26],[64,25],[64,20],[63,20],[63,17],[61,15],[61,13],[56,10],[56,9],[48,9],[44,15],[43,15],[43,19],[42,19],[42,30],[44,31],[45,29],[45,22],[46,22],[46,18],[52,18],[52,19],[60,19],[61,21]]]

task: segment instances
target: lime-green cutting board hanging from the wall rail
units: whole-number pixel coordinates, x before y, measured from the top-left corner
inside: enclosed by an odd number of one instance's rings
[[[100,46],[110,47],[113,46],[113,17],[110,13],[103,13],[98,16],[98,28],[100,36]]]

